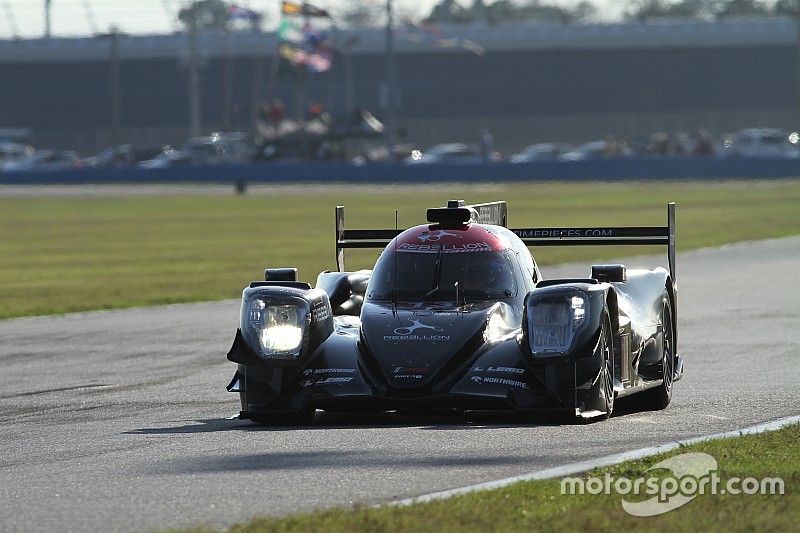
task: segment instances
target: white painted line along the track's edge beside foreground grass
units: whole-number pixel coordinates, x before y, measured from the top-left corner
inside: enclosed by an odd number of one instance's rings
[[[629,452],[617,453],[614,455],[608,455],[606,457],[599,457],[597,459],[589,459],[587,461],[580,461],[578,463],[556,466],[553,468],[546,468],[544,470],[539,470],[537,472],[522,474],[521,476],[508,477],[504,479],[498,479],[495,481],[487,481],[486,483],[479,483],[477,485],[470,485],[468,487],[461,487],[458,489],[443,490],[441,492],[433,492],[431,494],[423,494],[422,496],[415,496],[413,498],[407,498],[405,500],[383,503],[378,505],[377,507],[380,507],[382,505],[405,506],[405,505],[412,505],[415,503],[425,503],[433,500],[443,500],[445,498],[451,498],[453,496],[466,494],[468,492],[497,489],[500,487],[511,485],[512,483],[517,483],[519,481],[531,481],[534,479],[553,479],[553,478],[566,477],[573,474],[577,474],[579,472],[587,472],[589,470],[593,470],[595,468],[600,468],[603,466],[610,466],[619,463],[624,463],[625,461],[633,461],[635,459],[642,459],[643,457],[658,455],[660,453],[668,452],[670,450],[678,448],[679,446],[685,446],[687,444],[695,444],[697,442],[705,442],[705,441],[724,439],[729,437],[740,437],[742,435],[752,435],[755,433],[763,433],[765,431],[774,431],[776,429],[780,429],[784,426],[788,426],[790,424],[795,424],[798,422],[800,422],[800,416],[790,416],[787,418],[781,418],[780,420],[767,422],[765,424],[759,424],[757,426],[752,426],[745,429],[737,429],[725,433],[716,433],[714,435],[695,437],[692,439],[682,440],[678,442],[659,444],[658,446],[651,446],[649,448],[641,448],[639,450],[631,450]]]

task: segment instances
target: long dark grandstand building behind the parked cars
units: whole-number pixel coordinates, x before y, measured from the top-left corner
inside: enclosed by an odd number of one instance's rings
[[[488,128],[508,155],[609,135],[796,130],[797,39],[781,17],[398,28],[398,140],[477,142]],[[179,145],[195,112],[203,133],[252,132],[274,98],[288,117],[317,104],[335,121],[355,108],[385,121],[385,32],[338,31],[332,42],[330,69],[312,73],[281,67],[270,32],[3,40],[0,126],[88,155],[121,142]]]

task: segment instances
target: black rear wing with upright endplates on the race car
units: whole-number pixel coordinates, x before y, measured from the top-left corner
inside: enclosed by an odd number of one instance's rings
[[[446,208],[428,210],[428,220],[444,210],[469,210],[471,219],[482,224],[508,227],[506,203],[489,202],[465,205],[463,200],[451,200]],[[401,229],[345,229],[344,206],[336,207],[336,267],[345,270],[344,251],[347,248],[385,248],[404,230]],[[669,272],[675,279],[675,203],[667,204],[666,226],[627,227],[563,227],[511,229],[527,246],[616,246],[616,245],[666,245]]]

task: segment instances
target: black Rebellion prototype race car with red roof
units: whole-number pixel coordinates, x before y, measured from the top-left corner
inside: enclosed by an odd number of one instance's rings
[[[505,202],[451,200],[406,230],[345,229],[315,287],[268,268],[242,293],[228,359],[240,419],[294,424],[317,410],[505,410],[611,416],[617,398],[663,409],[677,351],[675,204],[667,225],[509,229]],[[594,265],[546,279],[529,247],[665,245],[668,269]],[[345,250],[383,248],[372,270]],[[587,269],[589,270],[589,269]]]

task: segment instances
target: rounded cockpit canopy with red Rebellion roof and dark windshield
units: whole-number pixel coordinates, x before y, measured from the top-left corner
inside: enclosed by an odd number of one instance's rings
[[[513,252],[487,228],[417,226],[386,247],[367,300],[477,301],[517,295]]]

